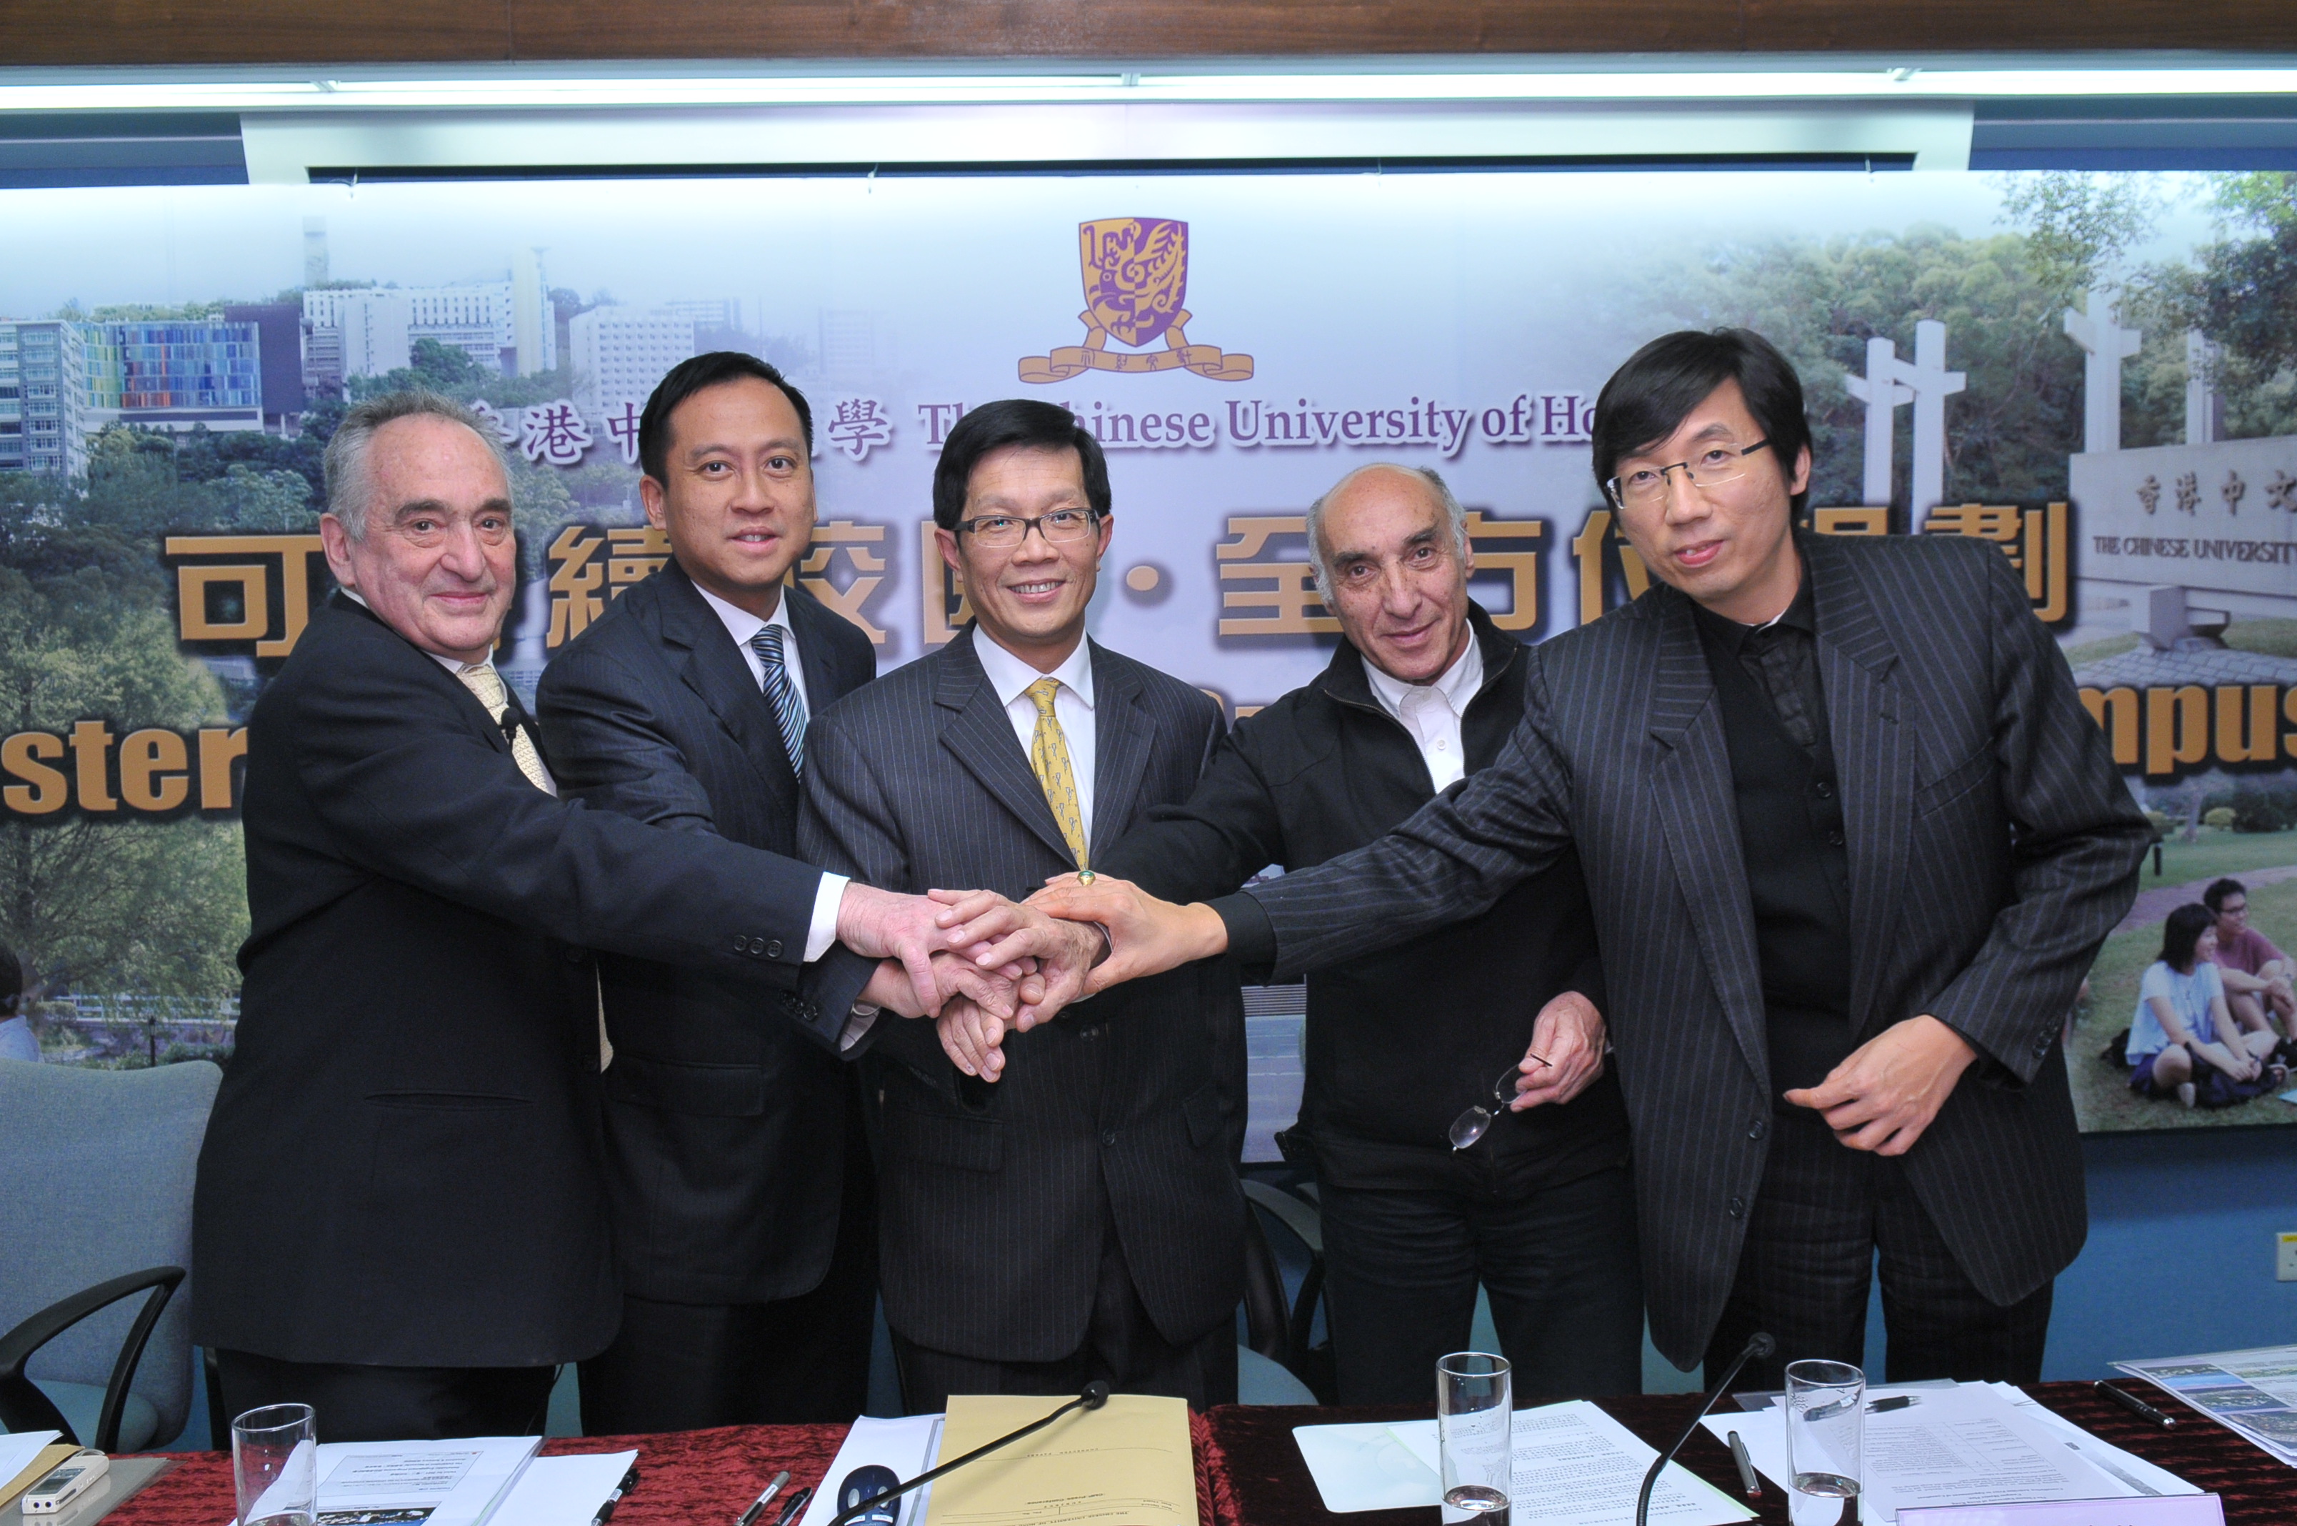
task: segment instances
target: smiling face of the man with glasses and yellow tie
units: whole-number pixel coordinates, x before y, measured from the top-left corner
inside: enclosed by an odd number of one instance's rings
[[[960,519],[1036,519],[1057,508],[1091,508],[1075,448],[1006,446],[983,455],[965,480]],[[1082,540],[1045,540],[1029,531],[1018,547],[983,547],[972,533],[933,531],[942,561],[965,579],[981,632],[1041,673],[1061,666],[1084,639],[1084,607],[1112,535],[1109,515]]]

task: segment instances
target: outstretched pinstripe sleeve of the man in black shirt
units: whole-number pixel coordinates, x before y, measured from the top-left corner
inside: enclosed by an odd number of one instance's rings
[[[1245,892],[1268,917],[1268,979],[1300,979],[1477,917],[1562,857],[1571,846],[1571,770],[1550,733],[1539,648],[1525,657],[1532,671],[1523,722],[1491,768],[1376,843]],[[1217,910],[1231,928],[1231,954],[1259,963],[1261,949],[1238,947],[1238,931],[1250,938],[1250,912]]]

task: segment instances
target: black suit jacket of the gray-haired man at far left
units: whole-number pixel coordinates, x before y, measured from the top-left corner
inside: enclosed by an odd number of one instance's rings
[[[604,1349],[586,947],[742,981],[829,1046],[845,1011],[799,988],[815,880],[544,795],[462,680],[342,595],[255,706],[241,820],[193,1340],[411,1367]]]

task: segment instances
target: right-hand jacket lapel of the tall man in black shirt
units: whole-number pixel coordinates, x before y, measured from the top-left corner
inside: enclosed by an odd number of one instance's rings
[[[1865,1036],[1881,1016],[1874,988],[1897,928],[1907,855],[1913,841],[1913,738],[1900,719],[1893,680],[1897,648],[1877,616],[1849,554],[1817,535],[1799,535],[1817,600],[1819,683],[1826,729],[1842,788],[1842,827],[1851,871],[1851,1032]]]

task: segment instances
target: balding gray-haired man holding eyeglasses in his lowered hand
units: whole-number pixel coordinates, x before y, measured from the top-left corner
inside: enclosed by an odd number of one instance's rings
[[[1468,598],[1459,499],[1376,464],[1307,512],[1346,641],[1240,719],[1183,807],[1093,869],[1169,901],[1305,869],[1488,765],[1523,719],[1523,643]],[[1341,1404],[1426,1400],[1491,1294],[1525,1397],[1635,1393],[1642,1292],[1626,1110],[1569,855],[1482,917],[1307,974],[1307,1087],[1279,1135],[1316,1172]],[[1440,1023],[1399,1014],[1438,1011]]]

